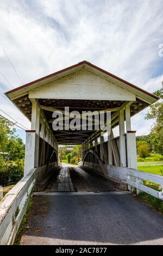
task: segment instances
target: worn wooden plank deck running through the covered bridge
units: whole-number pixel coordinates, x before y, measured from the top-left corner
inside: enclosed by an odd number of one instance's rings
[[[104,182],[100,176],[88,173],[82,168],[63,164],[57,178],[51,180],[45,192],[83,192],[83,191],[117,191],[116,188]]]

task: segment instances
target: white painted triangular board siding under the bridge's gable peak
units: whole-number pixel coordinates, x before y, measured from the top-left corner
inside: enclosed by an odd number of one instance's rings
[[[79,70],[29,92],[48,99],[135,100],[135,95],[87,70]]]

